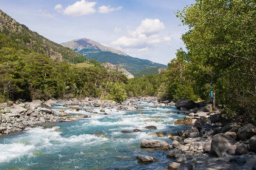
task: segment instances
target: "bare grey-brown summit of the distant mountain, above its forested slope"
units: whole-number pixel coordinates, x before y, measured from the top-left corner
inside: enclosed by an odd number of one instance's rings
[[[84,52],[83,54],[87,52],[112,52],[117,53],[119,55],[127,56],[126,53],[121,52],[119,50],[103,46],[99,42],[92,41],[91,39],[82,38],[82,39],[74,39],[73,41],[68,41],[61,44],[64,47],[68,47],[69,49],[72,49],[76,52]]]

